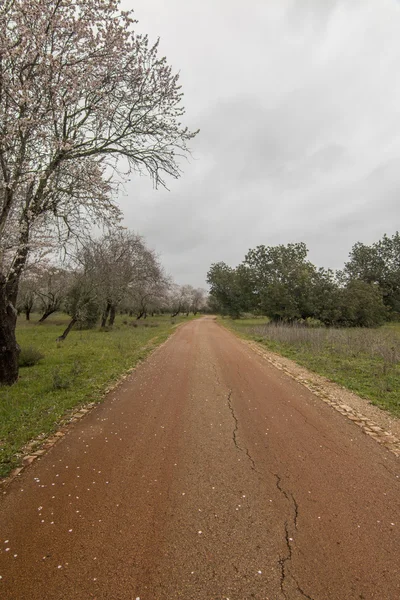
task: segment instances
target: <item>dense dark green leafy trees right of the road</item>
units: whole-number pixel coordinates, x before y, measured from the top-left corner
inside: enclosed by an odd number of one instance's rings
[[[251,312],[272,321],[373,327],[400,318],[400,235],[368,246],[357,242],[340,271],[317,268],[307,246],[257,246],[232,268],[211,265],[210,306],[238,318]]]

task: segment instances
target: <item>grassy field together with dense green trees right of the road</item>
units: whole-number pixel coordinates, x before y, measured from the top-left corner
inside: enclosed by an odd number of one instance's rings
[[[355,244],[341,271],[307,254],[303,243],[258,246],[236,268],[213,264],[210,306],[242,335],[400,416],[399,233]]]

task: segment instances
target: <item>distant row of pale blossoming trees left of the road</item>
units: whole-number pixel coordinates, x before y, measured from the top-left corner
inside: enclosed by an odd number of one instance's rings
[[[112,327],[117,312],[137,320],[165,312],[197,314],[205,302],[203,289],[172,281],[141,236],[114,229],[87,239],[68,264],[41,260],[28,265],[16,307],[27,320],[34,310],[39,312],[38,323],[57,311],[69,314],[71,321],[59,338],[64,340],[74,326]]]

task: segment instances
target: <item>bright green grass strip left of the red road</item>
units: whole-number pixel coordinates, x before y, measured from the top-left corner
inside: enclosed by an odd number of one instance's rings
[[[67,315],[55,314],[42,325],[37,324],[38,315],[31,318],[19,320],[18,343],[39,350],[44,358],[20,368],[15,385],[0,388],[0,477],[19,465],[27,442],[55,431],[74,407],[101,400],[110,382],[165,341],[177,324],[190,319],[149,317],[132,327],[134,318],[118,317],[109,331],[72,330],[57,343]]]

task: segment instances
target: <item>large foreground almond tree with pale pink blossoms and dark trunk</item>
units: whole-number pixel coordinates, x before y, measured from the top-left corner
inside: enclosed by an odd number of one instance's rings
[[[119,4],[0,6],[0,384],[18,376],[15,304],[37,228],[117,219],[118,159],[165,185],[197,133],[180,123],[178,76]]]

